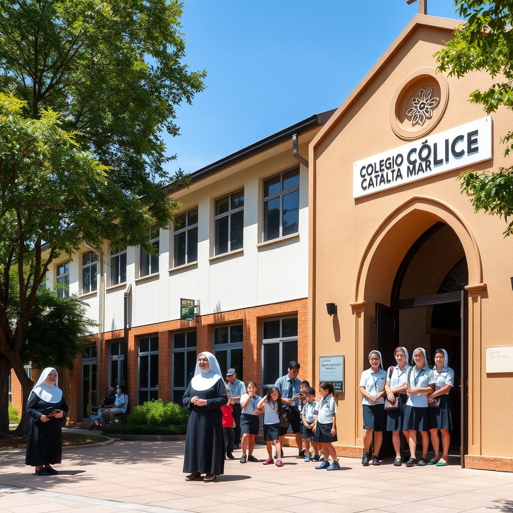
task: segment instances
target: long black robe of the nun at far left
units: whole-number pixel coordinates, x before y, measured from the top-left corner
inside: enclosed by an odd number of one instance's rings
[[[40,418],[43,413],[41,412],[48,408],[63,410],[63,417],[42,422]],[[63,451],[61,426],[64,419],[66,419],[68,405],[64,399],[61,399],[58,403],[47,403],[32,392],[27,401],[27,412],[30,415],[30,423],[27,435],[25,465],[35,467],[61,463]]]

